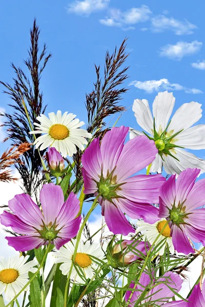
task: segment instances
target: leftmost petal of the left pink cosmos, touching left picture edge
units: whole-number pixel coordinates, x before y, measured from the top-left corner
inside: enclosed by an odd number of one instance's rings
[[[21,233],[21,234],[33,234],[35,229],[33,227],[25,224],[19,218],[9,213],[8,211],[4,211],[0,215],[1,224],[7,227],[11,227],[13,231]]]

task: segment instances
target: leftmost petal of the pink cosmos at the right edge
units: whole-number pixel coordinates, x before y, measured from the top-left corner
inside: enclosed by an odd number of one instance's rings
[[[175,175],[172,175],[161,187],[159,191],[159,217],[167,217],[169,209],[172,208],[176,195]],[[167,208],[168,207],[168,208]]]

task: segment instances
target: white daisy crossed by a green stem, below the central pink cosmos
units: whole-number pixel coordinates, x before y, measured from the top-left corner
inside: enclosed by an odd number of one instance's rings
[[[70,271],[75,245],[76,240],[73,240],[72,242],[70,241],[54,253],[54,256],[56,257],[54,262],[61,263],[60,270],[63,275],[68,275]],[[104,258],[104,253],[101,250],[101,247],[96,243],[90,245],[90,242],[88,241],[84,244],[83,240],[80,240],[74,260],[74,265],[77,267],[77,270],[75,269],[75,266],[73,266],[71,278],[79,283],[85,282],[88,278],[91,279],[98,268],[97,264],[100,264],[96,258],[99,260],[103,260]],[[79,274],[81,276],[79,276]]]

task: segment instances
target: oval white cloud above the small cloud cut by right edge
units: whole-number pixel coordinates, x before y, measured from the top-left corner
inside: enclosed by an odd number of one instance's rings
[[[165,56],[174,60],[181,60],[184,56],[189,56],[200,51],[202,42],[194,40],[192,42],[178,41],[176,45],[166,45],[161,47],[160,56]]]

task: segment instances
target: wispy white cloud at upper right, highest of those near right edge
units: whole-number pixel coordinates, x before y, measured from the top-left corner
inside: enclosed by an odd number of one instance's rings
[[[191,24],[188,20],[177,20],[173,17],[166,17],[165,15],[157,15],[151,19],[151,30],[153,32],[163,32],[171,30],[176,35],[192,34],[193,30],[197,29],[196,25]]]

